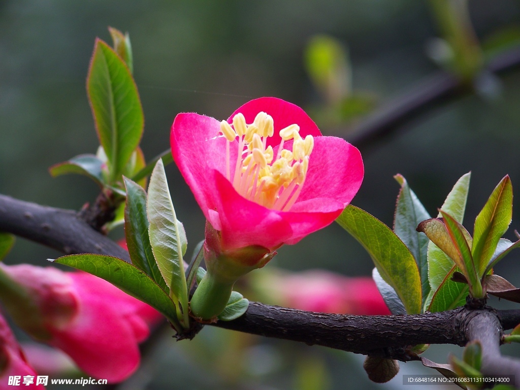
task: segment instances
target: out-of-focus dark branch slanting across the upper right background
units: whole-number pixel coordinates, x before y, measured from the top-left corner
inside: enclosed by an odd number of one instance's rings
[[[504,73],[518,66],[520,48],[515,48],[493,59],[484,72]],[[447,101],[470,93],[471,86],[464,85],[460,79],[448,72],[438,71],[368,116],[354,128],[353,134],[347,139],[363,149],[375,140],[401,129],[403,125],[423,113],[431,112]]]

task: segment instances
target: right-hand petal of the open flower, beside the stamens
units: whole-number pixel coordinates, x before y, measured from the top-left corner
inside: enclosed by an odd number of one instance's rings
[[[330,198],[346,207],[359,190],[364,172],[357,148],[342,138],[316,137],[305,184],[294,206],[308,199]],[[298,210],[303,211],[301,207]]]

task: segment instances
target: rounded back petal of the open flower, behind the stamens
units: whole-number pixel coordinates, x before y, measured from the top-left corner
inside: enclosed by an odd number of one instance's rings
[[[244,115],[246,123],[253,123],[256,114],[261,111],[271,115],[275,122],[275,134],[267,139],[267,146],[270,145],[274,148],[279,145],[282,139],[278,133],[282,128],[292,124],[300,126],[300,135],[303,138],[309,134],[315,137],[321,135],[316,123],[304,110],[293,103],[274,97],[262,97],[248,101],[231,114],[228,122],[231,123],[233,116],[240,112]]]

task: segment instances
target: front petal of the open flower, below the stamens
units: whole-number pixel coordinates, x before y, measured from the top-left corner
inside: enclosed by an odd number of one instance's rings
[[[248,245],[276,248],[292,236],[292,229],[280,212],[243,198],[218,171],[213,171],[213,175],[219,193],[217,210],[224,248]]]

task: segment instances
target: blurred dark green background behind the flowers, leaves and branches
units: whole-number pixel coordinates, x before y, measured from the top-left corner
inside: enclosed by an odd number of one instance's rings
[[[51,178],[47,170],[96,151],[85,77],[95,37],[111,43],[108,26],[131,37],[146,122],[141,147],[151,159],[169,148],[177,113],[227,119],[242,103],[261,96],[291,101],[311,113],[323,134],[350,139],[371,113],[442,63],[447,66],[446,45],[438,40],[447,36],[432,4],[0,0],[0,193],[76,210],[95,199],[98,188],[87,178]],[[478,42],[489,48],[484,57],[518,42],[517,0],[469,0],[467,5]],[[337,115],[329,112],[334,97],[323,93],[308,72],[308,45],[317,34],[334,38],[347,53],[341,93],[352,104]],[[434,215],[455,181],[472,171],[465,218],[471,231],[498,181],[509,174],[515,188],[520,180],[520,70],[488,76],[477,86],[364,145],[365,180],[353,204],[391,226],[399,189],[393,175],[401,173]],[[174,164],[167,174],[190,251],[203,239],[204,219]],[[512,228],[520,228],[519,199],[514,199]],[[514,238],[512,231],[506,238]],[[113,232],[114,239],[122,236],[122,230]],[[7,263],[44,266],[46,258],[56,256],[19,239]],[[513,253],[497,267],[516,285],[519,256]],[[324,268],[345,276],[370,275],[373,268],[361,246],[335,224],[282,248],[271,265]],[[169,329],[155,334],[141,370],[119,388],[397,388],[402,373],[428,373],[417,362],[401,364],[393,381],[375,385],[362,371],[362,357],[353,354],[211,327],[192,342],[175,343],[171,335]],[[460,356],[458,349],[435,347],[429,357],[444,363],[447,350]]]

